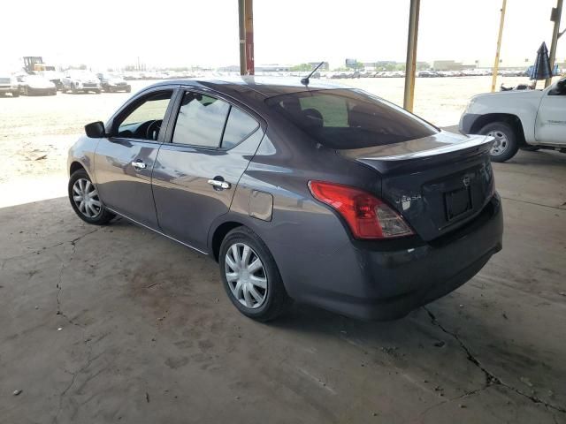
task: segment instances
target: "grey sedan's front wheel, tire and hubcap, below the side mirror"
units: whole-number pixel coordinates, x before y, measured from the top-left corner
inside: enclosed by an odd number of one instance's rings
[[[104,207],[86,170],[73,172],[69,178],[68,193],[75,214],[84,222],[103,225],[114,217],[114,214]]]

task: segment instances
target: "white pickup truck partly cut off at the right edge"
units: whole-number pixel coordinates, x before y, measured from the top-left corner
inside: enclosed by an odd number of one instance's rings
[[[519,148],[566,153],[566,78],[544,90],[476,95],[460,118],[460,132],[491,135],[493,162],[505,162]]]

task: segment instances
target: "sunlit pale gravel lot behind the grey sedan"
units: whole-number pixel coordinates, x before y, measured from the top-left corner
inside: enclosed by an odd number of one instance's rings
[[[508,85],[524,78],[500,78]],[[402,78],[336,79],[402,104]],[[155,81],[131,81],[133,91]],[[542,83],[540,83],[542,84]],[[435,125],[455,125],[472,95],[486,92],[491,77],[417,79],[415,111]],[[131,95],[0,97],[0,185],[14,179],[65,176],[66,153],[89,122],[105,121]],[[43,156],[45,156],[43,158]]]

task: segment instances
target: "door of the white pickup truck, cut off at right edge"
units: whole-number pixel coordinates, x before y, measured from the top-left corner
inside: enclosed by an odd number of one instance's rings
[[[558,81],[542,96],[535,137],[541,143],[566,145],[566,79]]]

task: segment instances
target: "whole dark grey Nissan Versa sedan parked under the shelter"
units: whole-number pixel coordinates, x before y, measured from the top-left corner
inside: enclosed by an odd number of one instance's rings
[[[77,215],[124,216],[210,254],[257,320],[292,299],[399,318],[501,250],[493,138],[440,131],[358,89],[166,81],[85,128],[68,161]]]

